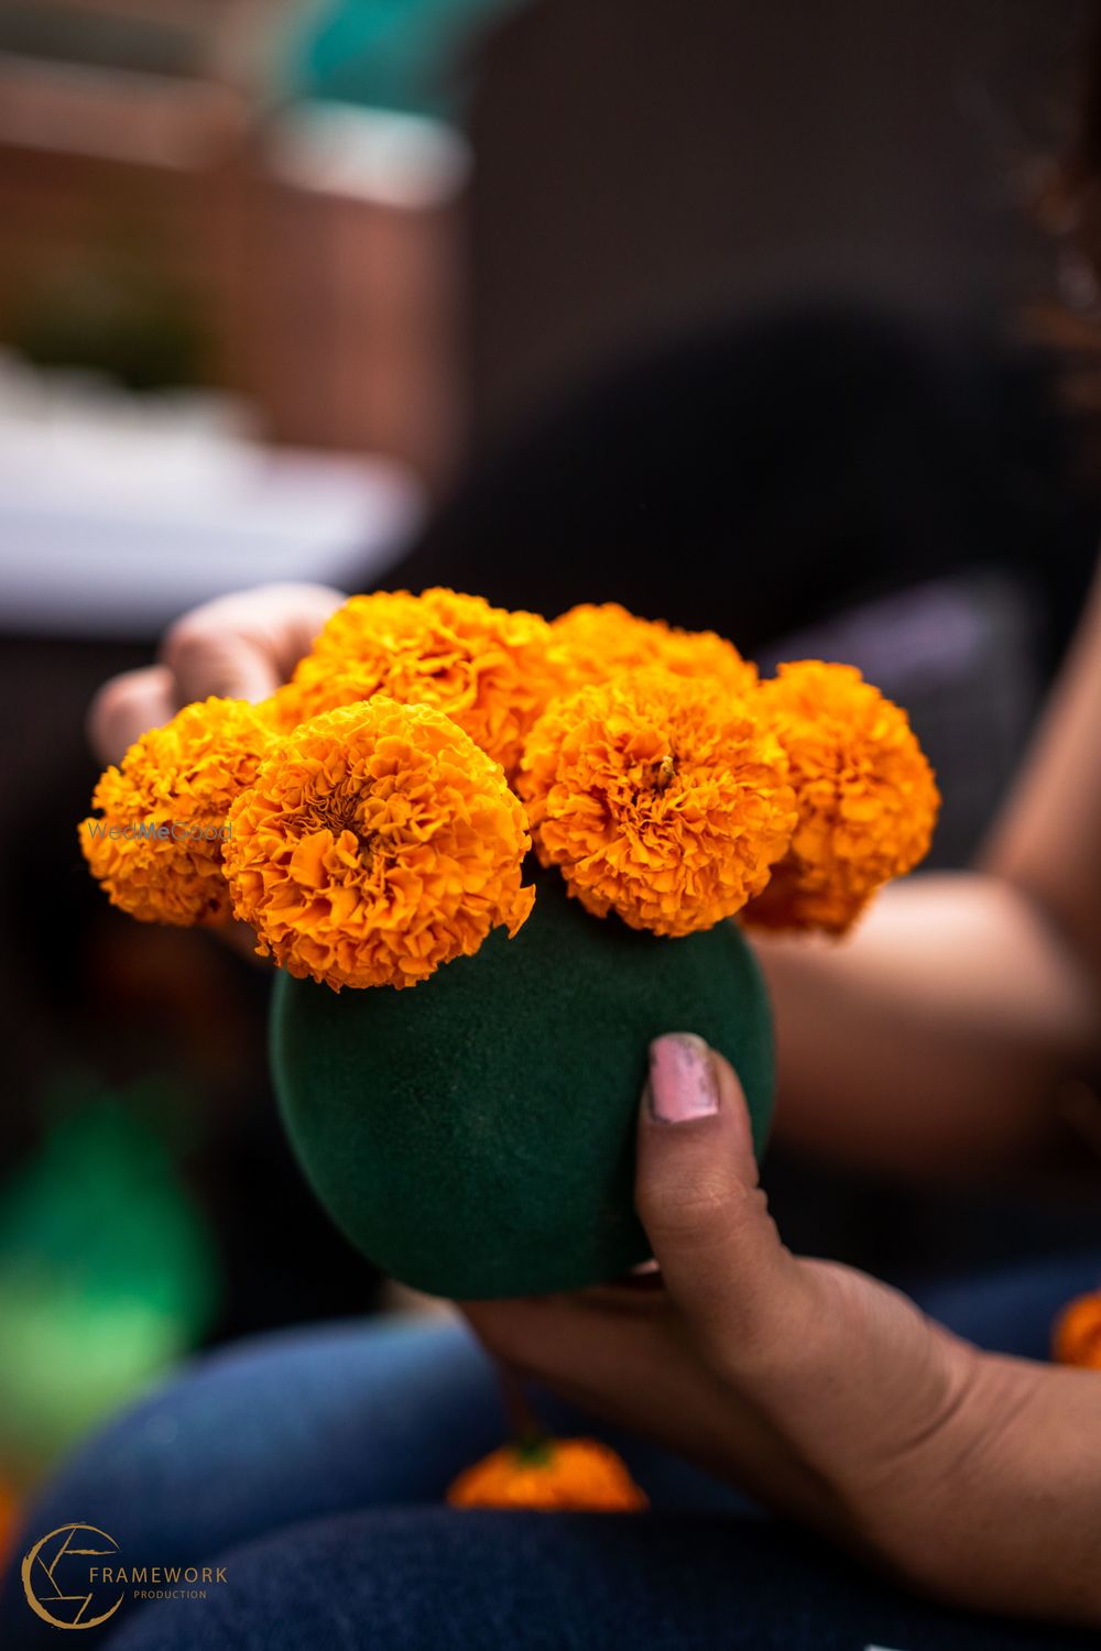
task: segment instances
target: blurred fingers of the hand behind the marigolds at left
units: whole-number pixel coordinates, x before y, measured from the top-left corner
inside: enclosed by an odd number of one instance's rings
[[[262,584],[193,608],[165,632],[155,665],[102,685],[87,712],[92,751],[119,763],[149,728],[211,693],[267,698],[342,601],[327,584]]]

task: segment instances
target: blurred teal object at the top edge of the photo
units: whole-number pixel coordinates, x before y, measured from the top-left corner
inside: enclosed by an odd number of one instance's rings
[[[456,119],[477,33],[527,0],[325,0],[286,40],[291,101],[366,104]]]

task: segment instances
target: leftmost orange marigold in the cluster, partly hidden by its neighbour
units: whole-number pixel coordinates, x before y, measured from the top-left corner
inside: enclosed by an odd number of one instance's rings
[[[276,743],[246,700],[185,705],[130,746],[92,794],[81,849],[111,903],[142,923],[221,923],[229,890],[221,865],[226,814]],[[111,835],[114,832],[114,835]]]

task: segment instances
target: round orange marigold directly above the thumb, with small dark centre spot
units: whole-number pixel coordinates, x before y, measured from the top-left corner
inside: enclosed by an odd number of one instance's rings
[[[751,702],[667,670],[555,700],[518,789],[543,865],[588,911],[655,934],[738,911],[796,824],[784,753]]]

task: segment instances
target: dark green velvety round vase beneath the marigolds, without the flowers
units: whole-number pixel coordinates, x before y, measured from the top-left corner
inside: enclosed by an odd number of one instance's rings
[[[515,939],[499,930],[421,986],[337,994],[281,976],[272,1060],[305,1176],[363,1255],[431,1294],[525,1296],[649,1256],[634,1134],[662,1032],[733,1062],[759,1149],[773,1035],[738,930],[642,934],[540,873]]]

